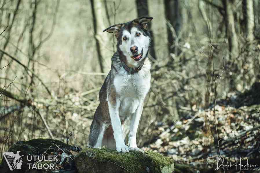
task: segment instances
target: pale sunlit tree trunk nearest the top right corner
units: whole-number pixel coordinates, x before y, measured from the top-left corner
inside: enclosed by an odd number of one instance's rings
[[[247,40],[252,42],[254,40],[254,6],[253,0],[243,0],[245,4],[245,20],[246,20],[246,34]]]

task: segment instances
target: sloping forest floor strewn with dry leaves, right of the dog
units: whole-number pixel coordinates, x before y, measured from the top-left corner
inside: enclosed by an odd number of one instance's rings
[[[260,146],[260,83],[254,83],[244,93],[230,93],[217,101],[216,119],[220,155],[226,161],[259,157]],[[195,168],[212,167],[219,157],[214,124],[214,104],[199,110],[193,117],[175,125],[160,125],[154,129],[153,139],[145,150],[154,150],[178,163]],[[212,135],[214,134],[214,135]]]

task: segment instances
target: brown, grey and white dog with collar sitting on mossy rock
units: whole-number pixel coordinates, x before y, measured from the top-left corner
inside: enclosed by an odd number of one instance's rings
[[[100,104],[91,123],[88,145],[93,148],[143,152],[136,144],[136,133],[144,99],[151,85],[148,59],[151,36],[147,23],[152,17],[140,17],[105,29],[117,39],[117,51],[111,58],[111,70],[99,92]],[[124,125],[130,120],[128,143],[124,143]]]

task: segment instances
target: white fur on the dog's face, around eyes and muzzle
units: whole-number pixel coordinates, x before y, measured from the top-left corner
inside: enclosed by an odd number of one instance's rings
[[[140,36],[136,36],[136,33],[140,33]],[[127,37],[127,40],[123,40],[124,37]],[[129,33],[129,31],[124,30],[122,33],[122,44],[119,45],[119,48],[123,52],[123,54],[127,57],[127,64],[131,64],[134,67],[138,67],[138,63],[131,58],[133,55],[130,51],[132,46],[138,47],[137,54],[140,54],[143,49],[143,57],[147,54],[149,50],[150,38],[148,36],[144,36],[141,31],[139,31],[136,27],[133,27]],[[141,60],[141,59],[140,59]]]

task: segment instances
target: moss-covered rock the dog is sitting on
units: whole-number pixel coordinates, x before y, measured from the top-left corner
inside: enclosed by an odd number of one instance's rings
[[[75,158],[78,173],[171,173],[173,159],[155,152],[118,153],[108,148],[85,148]]]

